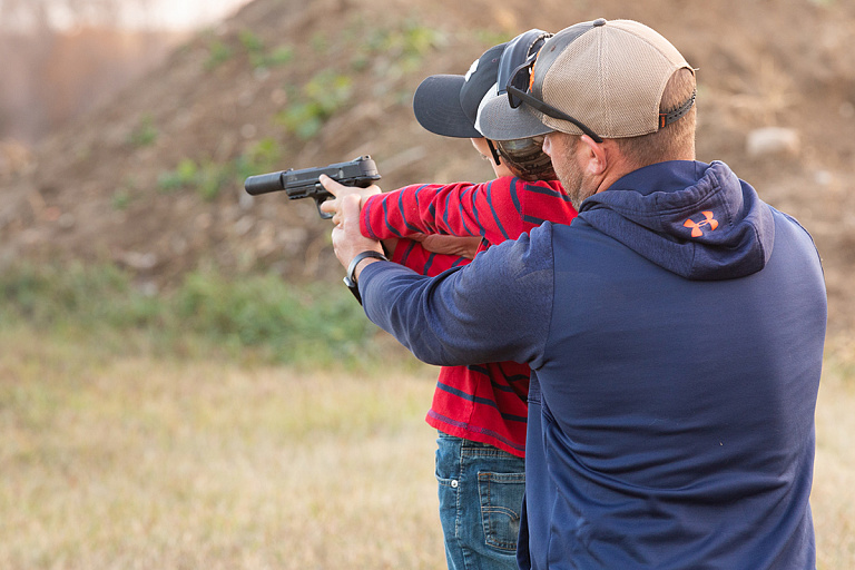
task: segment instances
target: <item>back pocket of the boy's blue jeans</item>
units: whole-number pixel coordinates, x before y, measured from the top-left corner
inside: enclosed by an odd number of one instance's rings
[[[525,493],[525,473],[478,474],[481,522],[487,544],[513,552],[520,534],[520,511]]]

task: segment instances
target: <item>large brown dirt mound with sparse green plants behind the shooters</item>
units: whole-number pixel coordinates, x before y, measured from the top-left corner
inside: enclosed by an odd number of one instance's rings
[[[419,127],[415,87],[522,30],[598,17],[652,26],[699,69],[698,158],[812,232],[832,325],[852,326],[851,2],[256,0],[2,175],[0,261],[118,263],[153,289],[206,266],[333,284],[328,223],[312,204],[250,198],[243,178],[371,154],[386,189],[484,179],[469,141]]]

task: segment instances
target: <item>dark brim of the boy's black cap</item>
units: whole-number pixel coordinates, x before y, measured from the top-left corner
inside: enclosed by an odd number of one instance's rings
[[[415,119],[425,129],[443,137],[481,138],[471,118],[460,105],[463,76],[430,76],[413,96]]]

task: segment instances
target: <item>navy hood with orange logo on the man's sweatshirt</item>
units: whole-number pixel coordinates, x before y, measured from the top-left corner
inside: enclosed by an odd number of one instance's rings
[[[772,255],[772,207],[719,161],[659,163],[587,198],[579,218],[689,279],[745,277]]]

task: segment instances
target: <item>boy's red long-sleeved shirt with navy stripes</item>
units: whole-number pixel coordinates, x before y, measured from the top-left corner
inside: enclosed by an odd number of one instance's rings
[[[558,180],[502,177],[481,184],[412,185],[372,196],[362,209],[361,228],[375,239],[480,236],[482,252],[546,220],[569,224],[576,214]],[[392,261],[423,275],[469,263],[432,254],[409,239],[399,242]],[[529,366],[517,362],[443,366],[426,421],[451,435],[524,456],[529,375]]]

